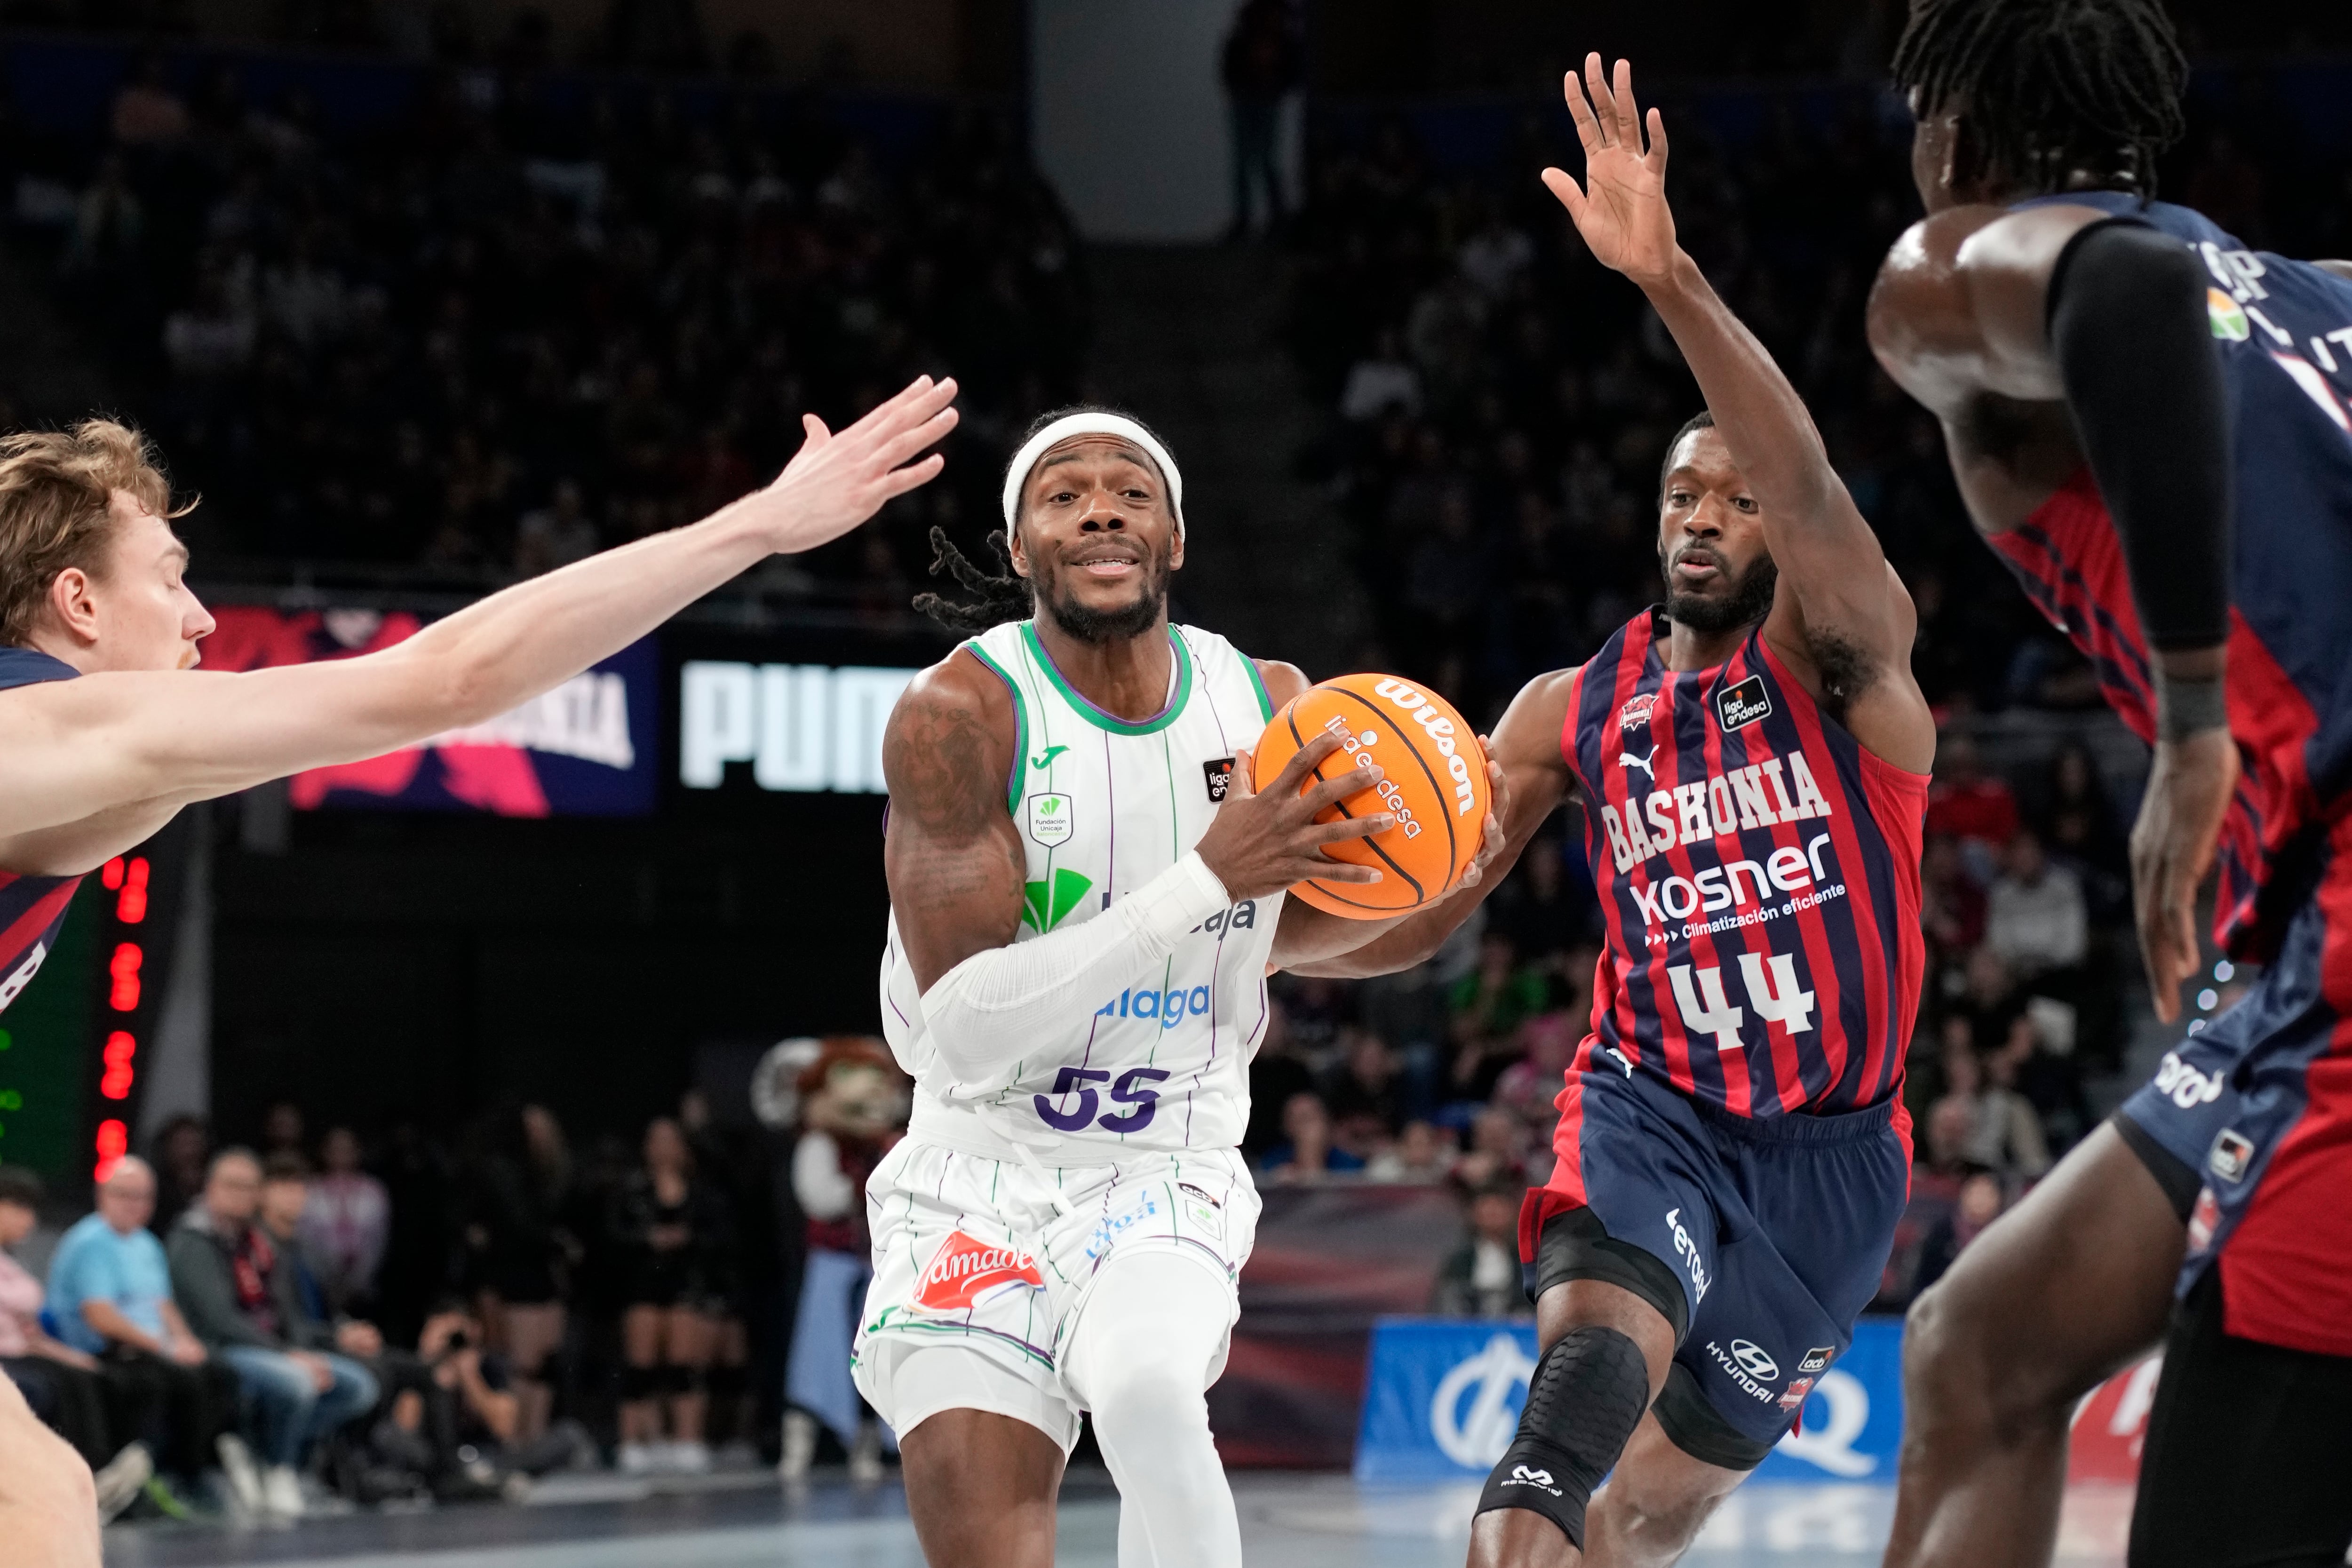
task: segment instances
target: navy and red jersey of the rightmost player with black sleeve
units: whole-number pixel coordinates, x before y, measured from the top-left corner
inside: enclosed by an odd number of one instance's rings
[[[2352,282],[2251,252],[2171,202],[2077,190],[2023,205],[2049,202],[2147,223],[2209,273],[2230,395],[2230,731],[2246,764],[2223,820],[2213,936],[2270,957],[2328,823],[2352,811]],[[2147,642],[2091,470],[1992,548],[2152,741]]]

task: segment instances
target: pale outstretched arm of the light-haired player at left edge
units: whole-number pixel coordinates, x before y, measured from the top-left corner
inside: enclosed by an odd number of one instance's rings
[[[941,458],[910,458],[955,428],[953,397],[953,381],[924,376],[840,435],[811,416],[807,444],[767,489],[689,529],[517,583],[381,654],[19,689],[0,708],[0,835],[228,795],[492,719],[767,555],[837,538],[927,482]]]

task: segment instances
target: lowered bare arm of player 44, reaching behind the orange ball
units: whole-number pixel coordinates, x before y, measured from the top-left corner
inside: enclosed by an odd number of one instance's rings
[[[1489,778],[1494,780],[1496,820],[1486,830],[1489,858],[1477,882],[1439,898],[1425,910],[1388,924],[1362,947],[1334,952],[1319,959],[1287,964],[1303,976],[1331,976],[1359,980],[1364,976],[1388,976],[1399,969],[1428,961],[1454,929],[1470,919],[1470,910],[1486,900],[1486,893],[1503,886],[1510,867],[1519,863],[1526,842],[1536,837],[1543,820],[1569,799],[1576,788],[1566,759],[1559,755],[1559,729],[1569,717],[1569,686],[1576,670],[1552,670],[1538,675],[1512,698],[1503,722],[1486,741]],[[1284,905],[1284,922],[1289,922]],[[1336,922],[1369,924],[1369,922]]]

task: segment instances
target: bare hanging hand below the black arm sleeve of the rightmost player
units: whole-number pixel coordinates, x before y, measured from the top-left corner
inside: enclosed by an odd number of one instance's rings
[[[2140,818],[2131,825],[2131,910],[2159,1023],[2180,1016],[2180,983],[2197,973],[2197,886],[2213,867],[2220,820],[2237,795],[2237,741],[2201,729],[2157,743]]]

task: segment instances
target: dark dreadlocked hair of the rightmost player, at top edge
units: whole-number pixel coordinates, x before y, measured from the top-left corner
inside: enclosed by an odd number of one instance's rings
[[[1893,78],[1922,118],[1966,115],[1985,176],[2056,190],[2089,169],[2150,197],[2187,59],[2161,0],[1912,0]]]

